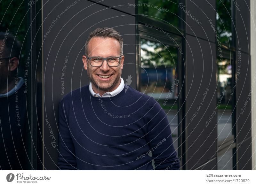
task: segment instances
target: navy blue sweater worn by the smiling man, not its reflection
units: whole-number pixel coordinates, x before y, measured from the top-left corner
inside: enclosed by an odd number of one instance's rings
[[[70,92],[60,101],[59,132],[61,170],[154,170],[152,159],[155,170],[180,167],[164,110],[130,86],[105,98],[88,85]]]

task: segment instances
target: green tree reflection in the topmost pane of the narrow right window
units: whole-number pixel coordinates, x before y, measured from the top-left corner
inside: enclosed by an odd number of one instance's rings
[[[217,0],[216,10],[216,28],[220,36],[220,42],[228,44],[232,41],[231,1]]]

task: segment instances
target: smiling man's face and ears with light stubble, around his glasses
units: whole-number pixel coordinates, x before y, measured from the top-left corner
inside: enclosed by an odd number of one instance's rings
[[[88,44],[88,57],[120,57],[120,44],[114,38],[94,37]],[[124,56],[122,56],[120,65],[116,67],[109,67],[106,60],[100,67],[91,66],[86,56],[83,56],[83,62],[94,89],[111,92],[118,87]]]

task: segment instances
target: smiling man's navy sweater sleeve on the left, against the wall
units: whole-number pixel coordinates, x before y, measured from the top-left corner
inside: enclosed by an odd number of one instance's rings
[[[60,170],[77,170],[74,143],[70,136],[68,114],[63,99],[59,105],[59,158]]]

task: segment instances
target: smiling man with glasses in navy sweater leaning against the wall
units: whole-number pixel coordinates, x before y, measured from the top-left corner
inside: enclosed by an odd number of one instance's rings
[[[152,98],[125,86],[123,39],[97,28],[85,43],[89,85],[63,97],[59,107],[61,170],[179,169],[171,130]],[[176,161],[175,161],[176,160]]]

